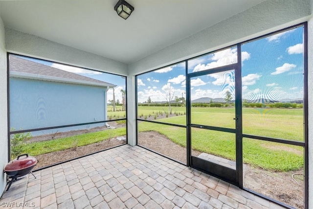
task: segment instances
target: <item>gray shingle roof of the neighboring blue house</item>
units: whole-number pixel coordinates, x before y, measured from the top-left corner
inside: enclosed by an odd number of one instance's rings
[[[37,62],[32,62],[29,60],[25,60],[23,58],[10,55],[10,71],[14,72],[22,72],[34,75],[44,75],[44,76],[51,76],[56,78],[65,78],[65,79],[73,79],[78,81],[87,81],[87,82],[94,82],[99,83],[101,85],[107,85],[114,87],[114,84],[107,83],[104,81],[96,80],[93,78],[89,78],[83,75],[75,74],[72,72],[68,72],[65,70],[60,70],[57,68],[49,67]]]

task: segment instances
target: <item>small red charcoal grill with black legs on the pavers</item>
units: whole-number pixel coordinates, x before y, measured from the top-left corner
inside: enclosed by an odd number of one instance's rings
[[[21,158],[22,156],[26,157]],[[25,176],[29,173],[31,173],[35,177],[35,175],[31,172],[31,169],[35,167],[36,163],[37,159],[35,157],[28,156],[28,154],[19,155],[16,159],[7,163],[4,167],[4,172],[12,180],[10,181],[10,184],[6,191],[9,190],[12,183],[19,177]]]

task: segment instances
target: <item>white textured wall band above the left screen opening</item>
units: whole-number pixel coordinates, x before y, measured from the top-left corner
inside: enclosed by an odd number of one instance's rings
[[[119,75],[128,74],[128,66],[124,63],[7,27],[5,27],[5,46],[6,50],[12,53]]]

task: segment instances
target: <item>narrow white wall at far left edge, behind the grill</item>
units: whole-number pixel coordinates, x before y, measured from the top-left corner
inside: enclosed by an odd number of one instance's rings
[[[7,135],[7,68],[4,42],[4,25],[0,18],[0,196],[6,186],[6,177],[2,172],[8,163]]]

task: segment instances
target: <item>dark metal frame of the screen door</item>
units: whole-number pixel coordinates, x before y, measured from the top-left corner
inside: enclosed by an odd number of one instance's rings
[[[222,179],[233,185],[243,187],[243,133],[242,133],[242,76],[241,76],[241,45],[237,47],[237,63],[230,64],[218,68],[202,70],[197,72],[188,73],[188,62],[186,61],[186,108],[187,108],[187,164],[190,167],[201,170],[219,179]],[[234,46],[233,46],[234,47]],[[229,47],[230,48],[230,47]],[[196,125],[191,123],[191,78],[208,75],[227,70],[234,70],[235,72],[235,128],[222,128],[215,126]],[[234,133],[236,135],[236,170],[219,165],[216,163],[205,161],[201,158],[192,156],[192,142],[191,142],[191,129],[192,127],[222,131],[226,133]],[[212,172],[213,171],[213,172]]]

